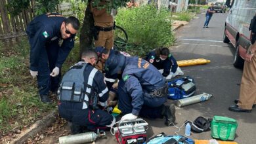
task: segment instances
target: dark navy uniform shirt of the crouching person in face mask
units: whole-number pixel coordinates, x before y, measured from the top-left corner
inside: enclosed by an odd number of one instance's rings
[[[173,58],[172,54],[169,54],[168,58],[165,60],[161,60],[159,56],[156,55],[156,52],[152,51],[146,56],[146,60],[152,63],[157,69],[163,69],[163,77],[167,77],[167,75],[170,74],[170,69],[171,72],[175,73],[178,68],[178,63],[175,58]]]

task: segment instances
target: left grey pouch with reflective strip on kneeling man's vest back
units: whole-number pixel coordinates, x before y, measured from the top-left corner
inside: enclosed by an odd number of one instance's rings
[[[63,82],[60,86],[60,94],[58,94],[58,99],[60,101],[72,101],[74,82]]]

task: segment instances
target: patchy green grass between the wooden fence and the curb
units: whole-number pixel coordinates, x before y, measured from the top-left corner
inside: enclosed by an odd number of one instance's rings
[[[51,105],[39,101],[36,79],[29,72],[29,52],[26,38],[8,48],[0,42],[0,137],[22,130],[56,109],[56,101]],[[79,45],[75,43],[62,74],[79,60],[78,56]]]

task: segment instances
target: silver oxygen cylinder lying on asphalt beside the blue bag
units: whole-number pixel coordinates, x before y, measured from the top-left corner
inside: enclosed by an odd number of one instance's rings
[[[207,94],[207,93],[203,92],[203,94],[199,94],[199,95],[192,96],[192,97],[189,97],[189,98],[179,99],[176,102],[176,105],[178,107],[183,107],[185,105],[191,105],[193,103],[200,103],[202,101],[207,101],[212,96],[213,96],[212,94]]]

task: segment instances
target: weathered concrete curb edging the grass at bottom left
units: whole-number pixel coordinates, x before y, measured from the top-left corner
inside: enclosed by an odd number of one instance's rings
[[[11,144],[22,144],[28,138],[35,136],[37,133],[41,132],[44,128],[47,128],[53,124],[56,120],[58,111],[54,109],[46,117],[43,117],[41,120],[37,120],[30,128],[24,130],[18,137],[11,141]]]

